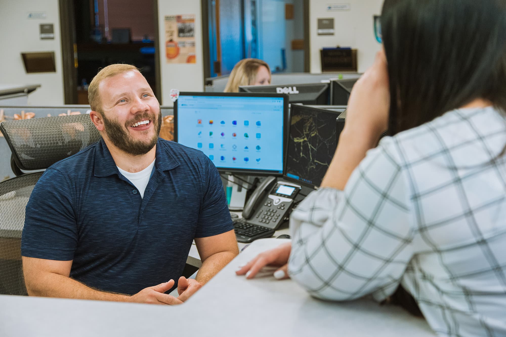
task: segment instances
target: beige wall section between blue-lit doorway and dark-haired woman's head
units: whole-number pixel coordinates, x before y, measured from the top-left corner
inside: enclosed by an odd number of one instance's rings
[[[344,0],[339,4],[350,4],[346,12],[327,11],[328,0],[309,1],[309,40],[311,72],[321,72],[320,49],[322,47],[352,47],[358,49],[358,71],[364,72],[374,61],[381,45],[374,38],[373,15],[381,14],[383,0]],[[333,18],[334,35],[318,35],[317,19]]]

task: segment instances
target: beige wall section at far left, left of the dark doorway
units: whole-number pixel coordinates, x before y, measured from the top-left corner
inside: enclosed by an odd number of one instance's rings
[[[29,12],[45,12],[46,19],[28,19]],[[30,105],[63,104],[62,56],[58,0],[0,0],[0,83],[40,84],[28,96]],[[41,40],[39,24],[54,24],[55,38]],[[56,72],[27,74],[21,52],[54,51]]]

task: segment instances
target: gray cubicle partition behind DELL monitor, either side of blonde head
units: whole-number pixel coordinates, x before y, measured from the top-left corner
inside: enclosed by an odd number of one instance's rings
[[[337,78],[359,78],[362,74],[358,72],[324,72],[312,74],[308,72],[279,73],[272,74],[272,85],[289,85],[293,83],[317,83]],[[209,77],[205,79],[205,92],[222,93],[227,86],[228,76]]]

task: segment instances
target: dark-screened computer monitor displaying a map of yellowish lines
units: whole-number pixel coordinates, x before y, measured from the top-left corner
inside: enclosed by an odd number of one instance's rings
[[[283,177],[318,187],[336,148],[335,119],[340,113],[292,105]]]

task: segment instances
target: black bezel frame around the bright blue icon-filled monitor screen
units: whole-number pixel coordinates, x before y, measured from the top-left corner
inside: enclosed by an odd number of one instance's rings
[[[283,99],[283,169],[282,172],[278,171],[270,171],[270,170],[252,170],[249,168],[224,168],[218,167],[218,172],[220,174],[240,174],[240,175],[250,175],[250,176],[275,176],[282,177],[284,173],[285,159],[286,153],[288,149],[288,105],[289,99],[286,94],[261,94],[261,93],[213,93],[213,92],[180,92],[178,95],[178,99],[180,96],[214,96],[214,97],[266,97],[266,98],[282,98]],[[174,101],[174,141],[178,142],[178,99]],[[198,150],[198,149],[197,149]]]

